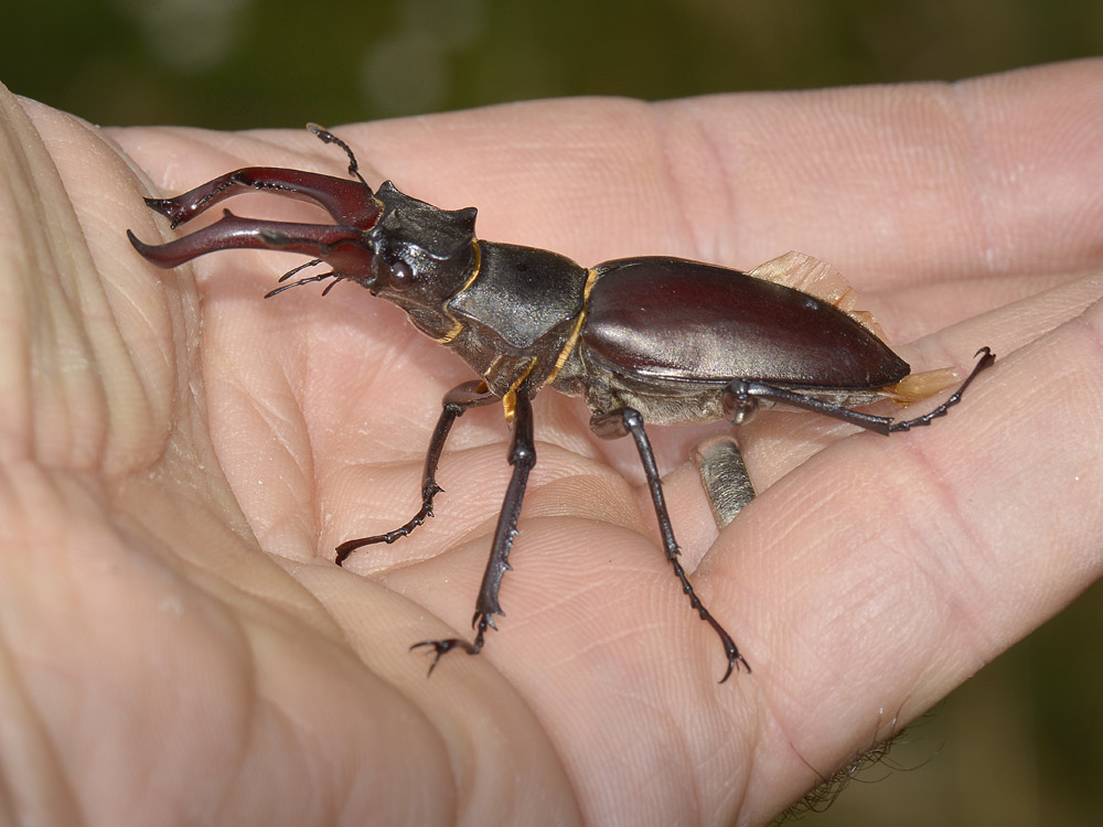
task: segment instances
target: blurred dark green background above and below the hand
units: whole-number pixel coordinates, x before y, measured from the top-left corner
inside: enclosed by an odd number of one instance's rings
[[[224,129],[955,79],[1103,54],[1093,0],[17,0],[6,19],[0,82],[14,92],[98,123]],[[1096,587],[805,823],[1100,824],[1101,644]]]

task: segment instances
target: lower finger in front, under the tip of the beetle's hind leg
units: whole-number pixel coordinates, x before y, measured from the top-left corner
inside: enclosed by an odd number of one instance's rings
[[[731,556],[703,571],[813,765],[906,723],[1103,571],[1101,322],[1093,304],[1003,358],[967,417],[823,451],[721,536]]]

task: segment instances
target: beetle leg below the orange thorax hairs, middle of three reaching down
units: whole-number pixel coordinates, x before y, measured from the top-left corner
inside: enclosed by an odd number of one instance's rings
[[[497,527],[494,529],[494,543],[491,546],[490,560],[486,561],[486,571],[483,573],[482,586],[479,587],[475,614],[471,619],[471,625],[475,629],[475,640],[468,643],[458,637],[450,637],[443,641],[421,641],[410,646],[411,649],[420,646],[433,648],[436,654],[432,663],[429,664],[430,674],[440,658],[453,648],[461,648],[469,655],[478,655],[483,647],[486,630],[496,629],[494,615],[505,615],[499,605],[497,593],[502,587],[502,577],[513,568],[510,566],[510,548],[513,546],[513,538],[517,536],[517,519],[521,517],[521,504],[525,498],[525,488],[528,485],[528,473],[536,464],[536,444],[533,440],[533,404],[524,393],[517,394],[516,408],[514,409],[510,464],[513,465],[513,474],[510,477],[510,486],[506,488],[502,511],[497,517]]]

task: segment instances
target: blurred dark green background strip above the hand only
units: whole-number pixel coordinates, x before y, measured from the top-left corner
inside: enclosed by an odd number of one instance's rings
[[[13,90],[98,123],[223,129],[952,79],[1103,46],[1093,0],[14,0],[4,19]]]

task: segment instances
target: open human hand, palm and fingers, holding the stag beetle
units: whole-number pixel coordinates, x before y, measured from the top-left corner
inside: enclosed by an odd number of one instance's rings
[[[343,174],[333,147],[98,129],[7,95],[0,114],[9,821],[761,824],[1100,574],[1103,61],[335,129],[368,182],[474,204],[484,238],[745,269],[796,248],[913,368],[997,353],[912,433],[761,415],[741,437],[763,493],[720,536],[684,463],[724,428],[653,430],[694,582],[754,669],[722,686],[634,449],[578,399],[536,400],[482,656],[426,679],[407,647],[469,633],[508,475],[497,409],[458,422],[435,519],[332,563],[414,513],[469,370],[354,286],[263,301],[301,259],[159,271],[124,232],[175,237],[141,196],[238,167]]]

